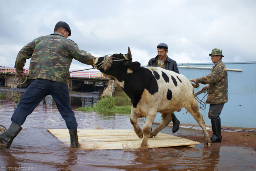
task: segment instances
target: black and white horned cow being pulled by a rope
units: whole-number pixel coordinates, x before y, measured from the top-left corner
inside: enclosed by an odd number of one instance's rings
[[[112,66],[108,69],[101,67],[102,61],[105,61],[104,58],[95,58],[94,66],[106,77],[118,82],[131,99],[130,120],[135,133],[140,138],[143,137],[141,148],[147,147],[148,137],[156,136],[170,123],[172,112],[180,111],[183,107],[202,127],[205,145],[211,144],[203,116],[199,113],[197,102],[193,96],[193,86],[184,75],[160,67],[141,67],[139,62],[132,62],[129,47],[127,55],[113,54],[111,56]],[[161,113],[162,122],[150,132],[157,112]],[[137,124],[138,117],[146,117],[142,129]]]

